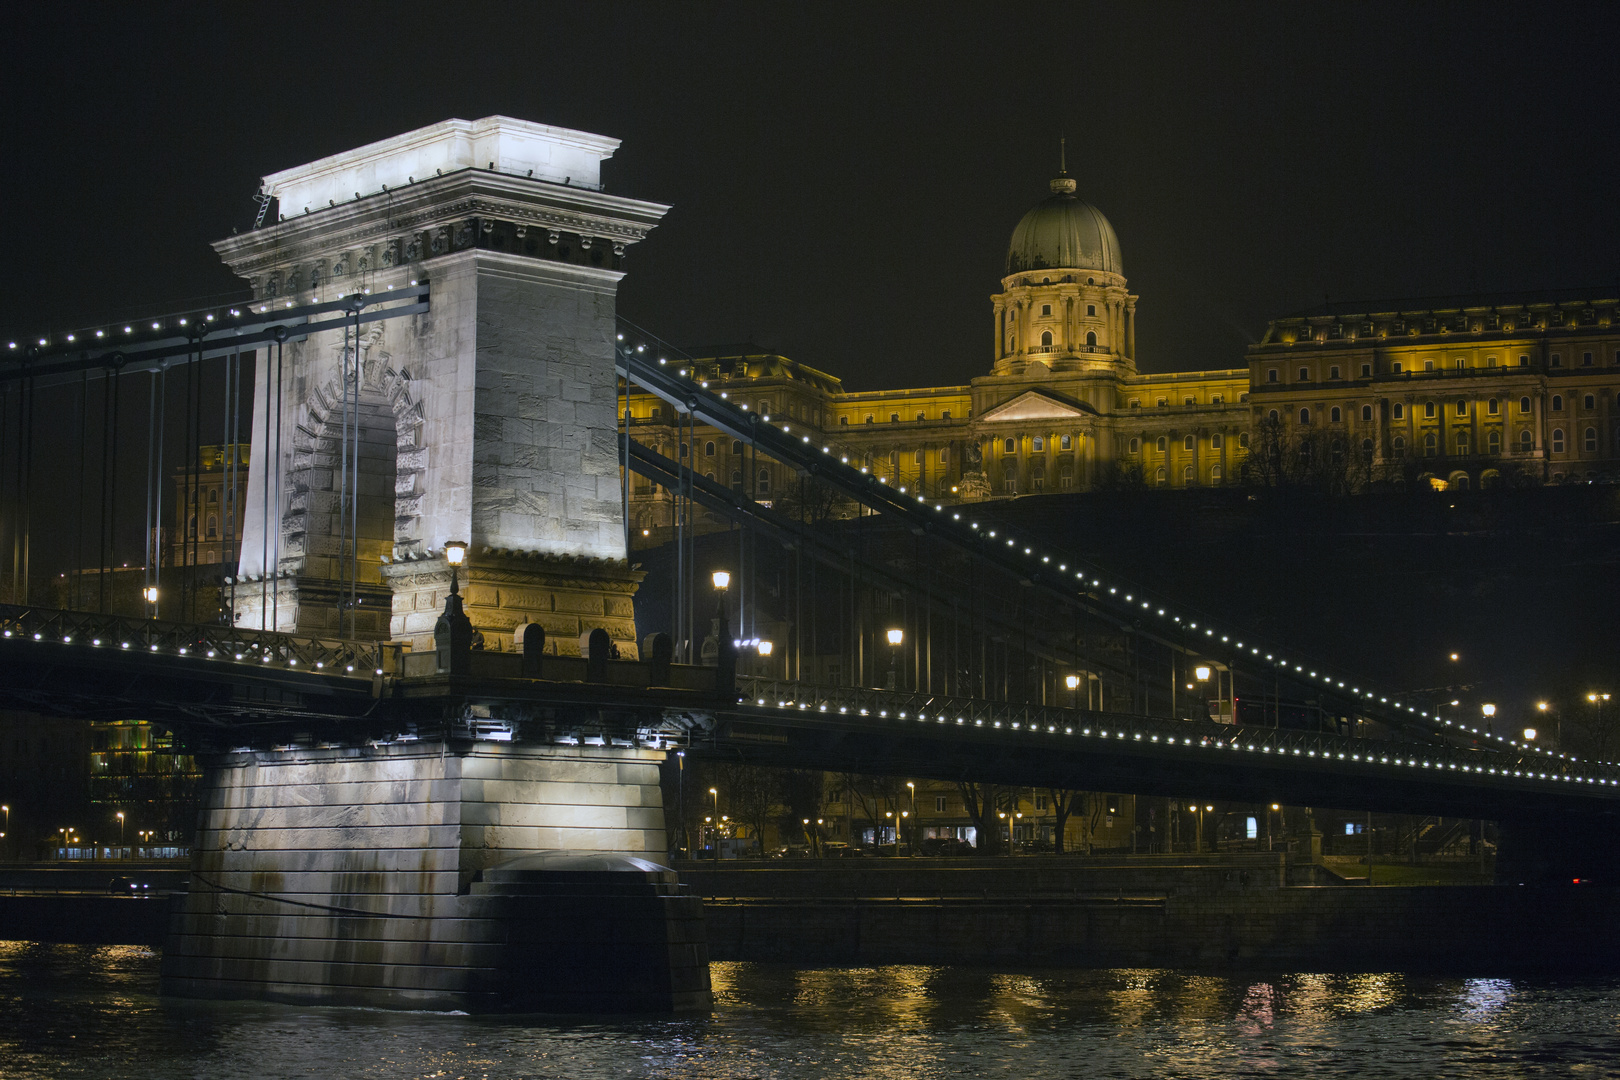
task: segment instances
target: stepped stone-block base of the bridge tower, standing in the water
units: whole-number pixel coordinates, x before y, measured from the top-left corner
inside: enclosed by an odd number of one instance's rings
[[[708,1007],[663,751],[436,740],[209,764],[164,991],[411,1009]]]

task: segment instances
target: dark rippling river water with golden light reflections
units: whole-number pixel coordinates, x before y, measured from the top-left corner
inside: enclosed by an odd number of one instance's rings
[[[1620,1077],[1620,978],[716,963],[705,1017],[157,996],[157,954],[0,942],[0,1077]]]

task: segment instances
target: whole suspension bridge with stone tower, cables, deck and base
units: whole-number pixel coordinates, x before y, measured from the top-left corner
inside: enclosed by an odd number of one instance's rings
[[[147,719],[209,761],[173,993],[705,999],[693,913],[643,861],[666,852],[672,748],[1489,818],[1526,873],[1609,874],[1620,766],[1445,719],[889,484],[617,319],[625,248],[667,207],[599,191],[616,146],[486,118],[287,170],[266,178],[279,220],[217,244],[251,295],[5,342],[0,706]],[[536,176],[543,159],[572,172]],[[637,393],[671,406],[679,445],[635,439]],[[698,474],[700,431],[797,491]],[[251,452],[222,458],[233,554],[209,565],[214,432]],[[676,505],[640,619],[637,476]],[[68,585],[47,597],[52,570]],[[760,674],[766,615],[787,640]],[[1285,722],[1301,701],[1311,722]],[[496,942],[559,910],[564,879],[654,944],[622,923],[528,941],[556,970],[617,957],[603,986],[536,997]],[[646,978],[651,997],[624,989]]]

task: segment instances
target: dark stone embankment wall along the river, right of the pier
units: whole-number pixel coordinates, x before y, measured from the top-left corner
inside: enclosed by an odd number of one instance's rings
[[[1299,887],[1280,857],[1254,863],[682,863],[680,879],[716,960],[1620,972],[1620,889]]]

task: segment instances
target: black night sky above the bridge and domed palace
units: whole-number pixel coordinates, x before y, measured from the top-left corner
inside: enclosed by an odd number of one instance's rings
[[[447,117],[624,141],[672,202],[620,309],[852,389],[990,364],[1058,134],[1150,371],[1366,296],[1620,280],[1615,19],[1523,5],[31,5],[5,37],[0,332],[233,287],[262,173]],[[133,314],[131,313],[131,314]]]

